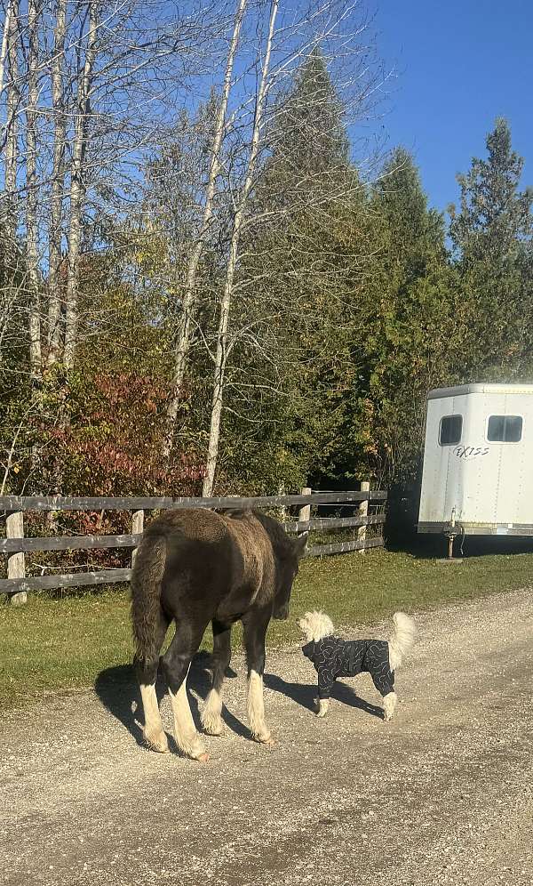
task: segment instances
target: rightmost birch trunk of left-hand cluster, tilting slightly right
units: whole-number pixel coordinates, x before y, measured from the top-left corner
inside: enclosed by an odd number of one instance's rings
[[[68,231],[67,312],[65,318],[65,366],[72,369],[76,355],[78,328],[78,278],[82,239],[82,212],[84,208],[84,160],[87,148],[91,79],[96,59],[96,36],[99,28],[96,0],[89,4],[89,31],[85,50],[84,69],[78,80],[76,122],[72,166],[70,173],[70,228]]]

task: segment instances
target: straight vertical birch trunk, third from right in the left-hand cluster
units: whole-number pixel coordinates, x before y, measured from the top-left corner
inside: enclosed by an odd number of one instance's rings
[[[28,0],[28,106],[26,109],[26,249],[29,278],[29,362],[32,383],[42,381],[41,314],[37,230],[37,68],[39,61],[36,0]]]

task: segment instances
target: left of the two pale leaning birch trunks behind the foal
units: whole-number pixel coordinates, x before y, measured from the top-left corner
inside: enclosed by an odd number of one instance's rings
[[[163,448],[163,457],[168,459],[171,454],[172,439],[174,428],[179,412],[179,401],[183,396],[183,382],[187,370],[188,354],[192,341],[192,326],[195,317],[196,302],[196,275],[198,265],[203,254],[203,246],[207,237],[213,215],[213,200],[217,189],[217,178],[220,173],[220,149],[226,130],[227,102],[231,92],[231,84],[233,77],[233,69],[235,63],[235,53],[239,44],[239,36],[243,24],[244,14],[246,12],[248,0],[238,0],[238,6],[235,12],[234,29],[227,53],[226,72],[224,76],[224,86],[222,97],[219,105],[219,113],[215,125],[215,134],[211,149],[211,165],[207,186],[205,189],[205,205],[203,207],[202,225],[195,239],[194,246],[189,254],[187,263],[187,274],[185,281],[185,292],[183,294],[183,302],[181,306],[181,318],[179,323],[178,341],[176,344],[176,352],[174,358],[174,373],[172,377],[172,396],[171,402],[167,409],[167,438]]]

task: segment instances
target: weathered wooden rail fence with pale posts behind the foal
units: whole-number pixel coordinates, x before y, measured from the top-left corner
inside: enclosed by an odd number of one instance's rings
[[[131,568],[99,569],[71,575],[27,576],[25,554],[36,551],[74,551],[103,548],[131,548],[131,562],[135,559],[144,528],[145,511],[171,511],[183,508],[242,508],[275,509],[299,507],[298,520],[285,520],[290,533],[329,533],[330,530],[354,530],[354,537],[330,544],[310,544],[310,556],[360,551],[383,545],[384,513],[369,513],[369,507],[383,508],[386,492],[370,491],[369,483],[350,492],[312,492],[302,489],[300,495],[264,495],[256,498],[68,498],[62,496],[0,496],[0,512],[5,516],[5,537],[0,538],[0,554],[7,555],[7,578],[0,579],[0,594],[9,594],[12,602],[23,603],[27,591],[80,587],[90,584],[128,582]],[[315,505],[357,508],[356,516],[312,517]],[[131,511],[131,534],[121,536],[51,536],[28,538],[24,536],[25,511]],[[379,534],[367,537],[367,527],[379,527]]]

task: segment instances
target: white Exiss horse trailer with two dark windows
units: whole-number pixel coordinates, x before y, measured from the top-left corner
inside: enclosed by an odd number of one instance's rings
[[[533,384],[429,392],[418,532],[533,536]]]

